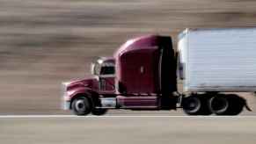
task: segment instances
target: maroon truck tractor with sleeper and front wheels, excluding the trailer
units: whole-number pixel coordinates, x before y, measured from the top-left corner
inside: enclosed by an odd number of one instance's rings
[[[106,109],[176,108],[176,60],[171,37],[148,35],[128,40],[113,58],[91,65],[93,77],[64,85],[64,108],[77,115]]]

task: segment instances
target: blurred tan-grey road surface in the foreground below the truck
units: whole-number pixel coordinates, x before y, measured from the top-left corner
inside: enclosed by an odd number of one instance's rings
[[[256,117],[5,116],[0,141],[12,144],[254,144]]]

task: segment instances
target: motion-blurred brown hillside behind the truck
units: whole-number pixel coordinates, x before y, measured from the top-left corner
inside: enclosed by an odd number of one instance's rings
[[[60,83],[128,38],[255,24],[253,0],[0,0],[0,114],[62,113]]]

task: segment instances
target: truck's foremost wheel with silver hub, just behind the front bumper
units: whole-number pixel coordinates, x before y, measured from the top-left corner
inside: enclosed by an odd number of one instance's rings
[[[71,109],[77,116],[84,116],[91,112],[91,101],[88,97],[77,97],[72,101]]]

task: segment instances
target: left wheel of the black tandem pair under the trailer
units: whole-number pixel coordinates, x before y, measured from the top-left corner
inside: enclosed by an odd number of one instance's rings
[[[197,95],[185,97],[183,99],[183,111],[188,115],[210,115],[212,112],[208,109],[208,97],[199,97]]]

